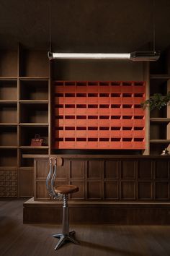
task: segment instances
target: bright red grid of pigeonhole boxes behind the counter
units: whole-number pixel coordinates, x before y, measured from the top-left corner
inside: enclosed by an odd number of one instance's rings
[[[55,81],[54,87],[54,148],[145,148],[145,82]]]

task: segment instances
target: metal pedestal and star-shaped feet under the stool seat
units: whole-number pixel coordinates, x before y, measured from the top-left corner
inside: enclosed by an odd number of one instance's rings
[[[62,224],[62,233],[61,234],[55,234],[53,237],[58,238],[58,244],[55,246],[55,250],[60,248],[62,244],[64,244],[66,241],[71,241],[74,244],[79,244],[78,241],[76,241],[73,238],[73,234],[75,234],[75,231],[69,231],[69,218],[68,218],[68,195],[63,195],[63,224]]]

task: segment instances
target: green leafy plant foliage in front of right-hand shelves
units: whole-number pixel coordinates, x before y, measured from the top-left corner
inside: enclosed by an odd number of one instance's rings
[[[161,93],[154,93],[148,100],[143,101],[141,103],[142,108],[149,107],[150,110],[154,108],[161,109],[166,106],[170,101],[170,92],[166,95],[162,95]]]

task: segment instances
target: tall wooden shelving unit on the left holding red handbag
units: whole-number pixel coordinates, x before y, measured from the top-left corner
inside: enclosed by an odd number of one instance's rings
[[[50,152],[48,56],[21,45],[0,56],[0,197],[32,196],[33,161],[22,154]],[[30,146],[37,133],[45,137],[42,147]]]

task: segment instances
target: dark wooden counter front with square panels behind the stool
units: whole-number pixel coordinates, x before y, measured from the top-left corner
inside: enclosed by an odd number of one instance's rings
[[[48,159],[35,163],[40,199],[46,196],[40,186],[46,190]],[[64,158],[56,184],[77,185],[79,192],[71,197],[76,200],[169,200],[169,160]]]

